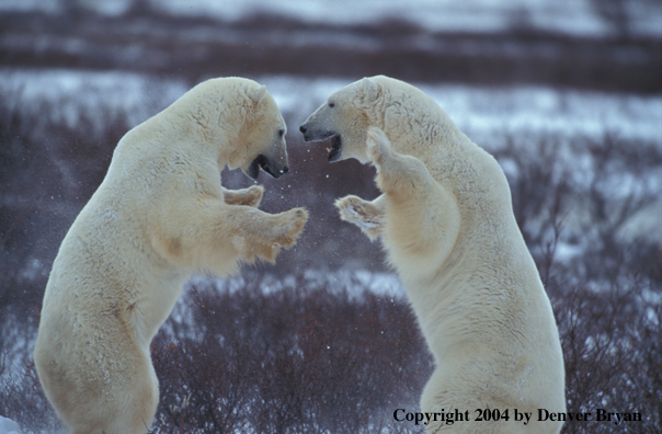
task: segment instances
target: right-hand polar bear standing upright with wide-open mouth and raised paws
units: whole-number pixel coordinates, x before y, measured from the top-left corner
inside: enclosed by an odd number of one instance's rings
[[[536,421],[538,409],[566,409],[558,330],[496,161],[431,98],[384,76],[331,94],[300,132],[306,141],[330,137],[331,161],[377,169],[384,194],[336,206],[380,238],[434,355],[421,399],[427,430],[442,427],[433,413],[459,410],[471,422],[446,425],[454,433],[559,432],[560,422]],[[479,409],[501,420],[477,421]]]

